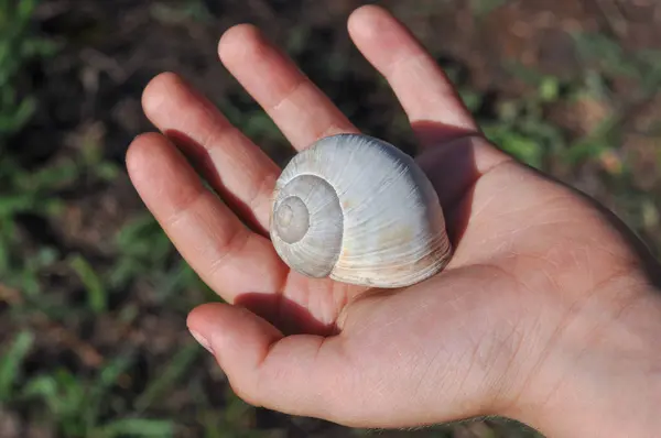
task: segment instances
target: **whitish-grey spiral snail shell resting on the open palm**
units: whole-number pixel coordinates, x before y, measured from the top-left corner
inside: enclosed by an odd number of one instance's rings
[[[362,134],[324,138],[290,161],[275,183],[270,234],[294,271],[370,287],[419,283],[452,252],[426,175]]]

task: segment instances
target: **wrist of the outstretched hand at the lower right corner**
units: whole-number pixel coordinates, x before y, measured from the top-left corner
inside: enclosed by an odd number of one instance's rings
[[[507,416],[549,437],[659,435],[661,291],[627,283],[565,313]]]

